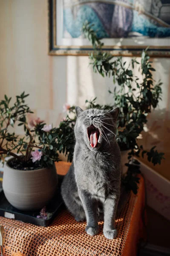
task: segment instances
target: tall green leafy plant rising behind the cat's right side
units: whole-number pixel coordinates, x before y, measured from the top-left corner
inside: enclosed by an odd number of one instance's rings
[[[115,107],[120,108],[117,120],[117,141],[124,160],[123,169],[126,167],[128,169],[122,183],[127,191],[132,190],[136,194],[139,182],[136,174],[140,173],[140,163],[134,157],[146,155],[147,160],[153,165],[161,164],[161,160],[164,159],[164,153],[158,152],[155,149],[156,146],[147,151],[138,143],[139,135],[147,123],[148,113],[156,108],[158,101],[161,100],[162,83],[161,81],[156,83],[153,79],[152,72],[156,70],[152,67],[152,61],[150,61],[147,51],[142,52],[141,63],[136,58],[132,58],[131,63],[127,65],[126,61],[122,61],[122,57],[115,58],[110,53],[103,52],[104,44],[101,39],[97,38],[92,26],[86,22],[82,28],[82,32],[89,39],[94,50],[89,53],[90,64],[95,73],[99,73],[103,77],[111,76],[116,86],[113,92],[109,90],[114,104],[99,105],[95,98],[91,101],[86,100],[86,108],[104,108],[107,111]],[[141,78],[138,78],[133,71],[135,65],[141,73]],[[75,114],[74,106],[65,105],[64,109],[68,113]],[[61,126],[66,127],[74,127],[74,124],[75,117],[70,118],[69,114],[66,116],[66,121],[61,122]]]

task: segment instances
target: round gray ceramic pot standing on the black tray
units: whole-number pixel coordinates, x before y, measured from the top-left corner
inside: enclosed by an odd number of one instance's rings
[[[57,189],[58,177],[55,166],[21,171],[9,167],[9,161],[4,167],[3,174],[3,191],[9,203],[20,210],[44,207]]]

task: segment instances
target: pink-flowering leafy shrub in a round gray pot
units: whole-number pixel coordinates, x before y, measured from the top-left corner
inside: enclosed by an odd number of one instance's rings
[[[21,210],[40,209],[54,195],[58,177],[55,161],[58,161],[56,142],[58,129],[46,125],[39,118],[29,122],[28,113],[33,113],[25,103],[24,92],[11,98],[5,95],[0,102],[0,160],[6,162],[3,174],[3,191],[7,200]],[[12,128],[22,126],[25,136],[16,135]]]

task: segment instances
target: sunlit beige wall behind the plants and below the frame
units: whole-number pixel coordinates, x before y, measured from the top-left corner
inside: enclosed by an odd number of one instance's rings
[[[49,56],[47,22],[46,0],[0,0],[0,99],[25,90],[37,116],[57,125],[64,102],[83,107],[85,99],[97,96],[98,102],[109,103],[107,91],[113,85],[112,79],[92,72],[86,56]],[[154,169],[170,179],[170,59],[153,61],[164,95],[159,110],[150,115],[143,143],[167,153],[164,164]]]

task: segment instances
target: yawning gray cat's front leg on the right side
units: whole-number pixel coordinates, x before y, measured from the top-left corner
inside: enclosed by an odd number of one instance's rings
[[[104,228],[103,233],[107,239],[115,239],[115,214],[118,205],[118,197],[110,197],[104,201]]]

